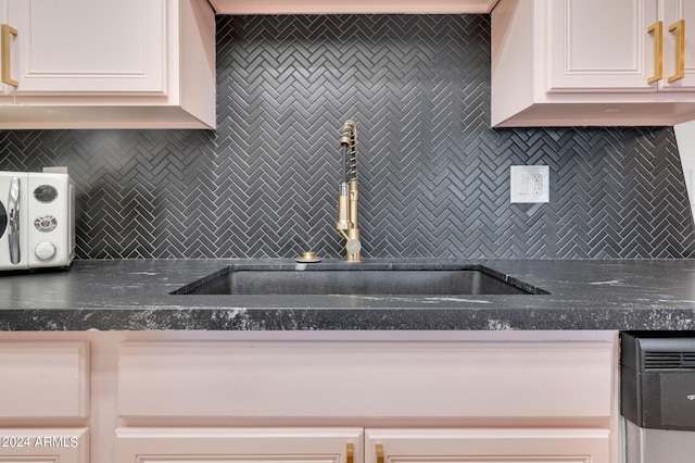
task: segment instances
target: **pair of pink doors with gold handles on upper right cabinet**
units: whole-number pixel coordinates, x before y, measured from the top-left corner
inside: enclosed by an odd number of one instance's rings
[[[563,0],[548,14],[549,91],[693,89],[695,2]]]

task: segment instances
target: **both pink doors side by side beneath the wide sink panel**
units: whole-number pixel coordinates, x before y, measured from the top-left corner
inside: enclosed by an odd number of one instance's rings
[[[607,429],[122,428],[114,461],[609,463],[609,449]]]

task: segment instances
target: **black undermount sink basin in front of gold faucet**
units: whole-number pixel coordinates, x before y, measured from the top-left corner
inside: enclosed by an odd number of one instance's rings
[[[172,295],[547,295],[482,265],[235,264]]]

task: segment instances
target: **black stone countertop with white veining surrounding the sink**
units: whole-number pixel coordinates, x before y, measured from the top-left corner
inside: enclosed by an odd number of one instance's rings
[[[548,295],[169,295],[249,262],[296,267],[290,260],[78,260],[67,271],[3,274],[0,330],[695,329],[695,260],[308,264],[484,265]]]

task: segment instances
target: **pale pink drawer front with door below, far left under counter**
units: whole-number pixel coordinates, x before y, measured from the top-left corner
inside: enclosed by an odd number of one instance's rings
[[[89,343],[0,340],[0,462],[89,461]]]

